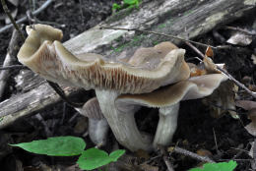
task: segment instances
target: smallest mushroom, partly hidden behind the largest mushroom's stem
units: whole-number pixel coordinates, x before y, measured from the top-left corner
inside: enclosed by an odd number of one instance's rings
[[[88,131],[91,141],[96,145],[104,145],[109,126],[100,110],[96,97],[91,98],[82,108],[76,108],[76,110],[89,118]]]

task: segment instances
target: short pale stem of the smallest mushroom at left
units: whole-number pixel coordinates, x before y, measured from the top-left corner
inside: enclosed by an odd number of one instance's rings
[[[89,118],[89,136],[92,142],[104,145],[108,128],[107,121],[104,118],[100,120]]]

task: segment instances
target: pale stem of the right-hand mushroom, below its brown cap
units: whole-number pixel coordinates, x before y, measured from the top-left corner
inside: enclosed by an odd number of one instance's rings
[[[172,141],[177,128],[179,102],[168,107],[160,107],[160,121],[153,142],[157,149],[158,145],[166,146]]]

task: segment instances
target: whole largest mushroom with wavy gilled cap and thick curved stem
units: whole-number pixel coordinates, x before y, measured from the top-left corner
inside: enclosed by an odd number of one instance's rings
[[[35,25],[34,29],[27,27],[27,32],[29,36],[18,53],[21,63],[51,82],[96,89],[100,109],[116,140],[132,151],[152,149],[152,142],[136,126],[134,113],[138,107],[116,106],[115,99],[122,93],[151,92],[188,79],[190,71],[184,61],[184,49],[164,42],[147,48],[152,51],[149,54],[137,50],[123,64],[94,53],[73,55],[60,43],[59,29]],[[136,62],[136,56],[143,56],[143,60]]]

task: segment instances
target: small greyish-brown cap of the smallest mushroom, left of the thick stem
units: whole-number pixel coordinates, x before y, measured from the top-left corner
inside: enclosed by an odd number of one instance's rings
[[[96,97],[91,98],[82,108],[76,108],[76,110],[90,119],[101,120],[104,118]]]

